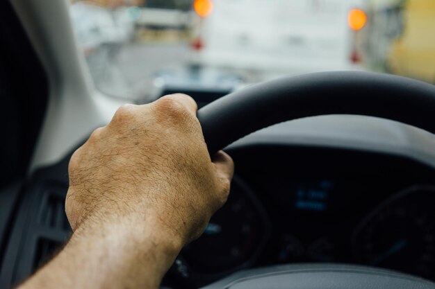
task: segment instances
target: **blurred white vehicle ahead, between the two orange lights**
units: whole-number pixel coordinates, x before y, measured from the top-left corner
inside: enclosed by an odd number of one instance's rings
[[[364,10],[365,1],[213,1],[213,11],[202,19],[204,48],[196,61],[271,77],[359,69],[352,62],[358,33],[347,19],[354,8]]]

